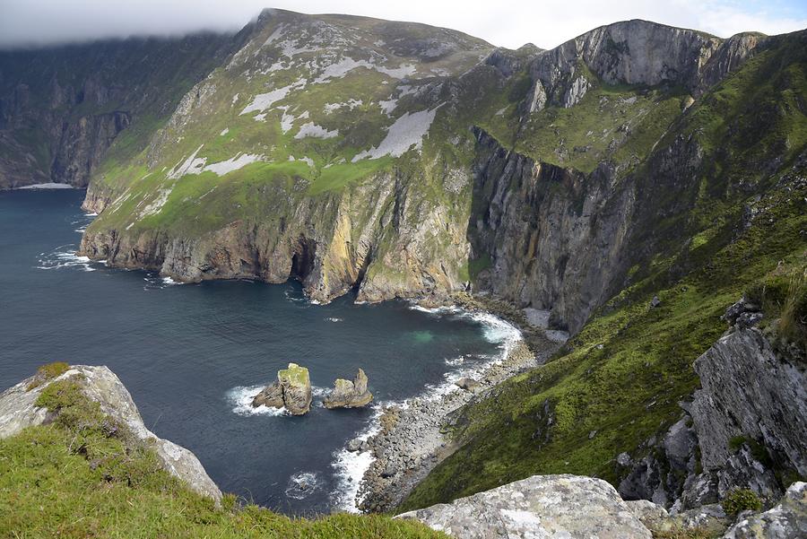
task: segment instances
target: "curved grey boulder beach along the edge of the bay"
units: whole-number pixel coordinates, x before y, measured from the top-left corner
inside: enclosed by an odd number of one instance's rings
[[[559,348],[532,331],[520,310],[499,309],[499,302],[456,298],[470,312],[502,317],[519,329],[522,338],[505,344],[505,357],[488,365],[473,391],[456,387],[438,396],[421,396],[402,405],[384,408],[380,426],[366,440],[352,440],[349,449],[368,452],[373,460],[361,479],[355,502],[364,512],[389,512],[397,508],[430,471],[455,449],[449,433],[453,413],[473,399],[482,398],[504,380],[534,368]],[[508,316],[509,315],[509,316]],[[523,318],[523,319],[522,319]]]

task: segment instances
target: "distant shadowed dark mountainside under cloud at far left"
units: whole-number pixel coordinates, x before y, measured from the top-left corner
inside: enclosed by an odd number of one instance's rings
[[[0,188],[86,187],[108,157],[140,152],[240,37],[125,39],[0,51]]]

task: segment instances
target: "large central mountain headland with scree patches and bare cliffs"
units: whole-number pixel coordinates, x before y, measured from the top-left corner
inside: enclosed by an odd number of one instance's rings
[[[182,281],[291,276],[319,301],[351,289],[443,301],[476,281],[575,332],[653,249],[636,230],[657,198],[644,182],[697,187],[697,141],[647,156],[682,98],[643,88],[697,93],[758,42],[634,21],[505,51],[447,30],[270,10],[120,178],[92,183],[85,208],[101,217],[82,253]],[[613,84],[636,90],[614,100]],[[562,109],[607,117],[583,120],[605,126],[603,141],[568,148],[568,126],[538,136],[557,144],[551,154],[536,149],[541,115]],[[645,160],[652,170],[637,172]],[[665,195],[661,211],[687,202]]]

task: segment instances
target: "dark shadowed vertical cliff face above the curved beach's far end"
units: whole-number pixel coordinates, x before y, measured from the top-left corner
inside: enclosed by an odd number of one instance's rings
[[[636,194],[608,166],[586,175],[508,152],[477,129],[473,253],[490,256],[476,287],[552,311],[577,332],[610,297]]]

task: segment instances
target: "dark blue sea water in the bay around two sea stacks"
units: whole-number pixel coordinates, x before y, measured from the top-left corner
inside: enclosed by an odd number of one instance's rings
[[[0,390],[49,361],[107,365],[146,426],[191,449],[222,491],[273,509],[349,505],[368,456],[343,447],[369,428],[377,404],[446,390],[513,336],[492,317],[399,301],[312,305],[298,283],[177,285],[91,264],[73,254],[92,219],[82,197],[72,189],[0,192]],[[289,361],[310,371],[311,413],[244,405]],[[358,368],[374,408],[317,405],[334,378]]]

